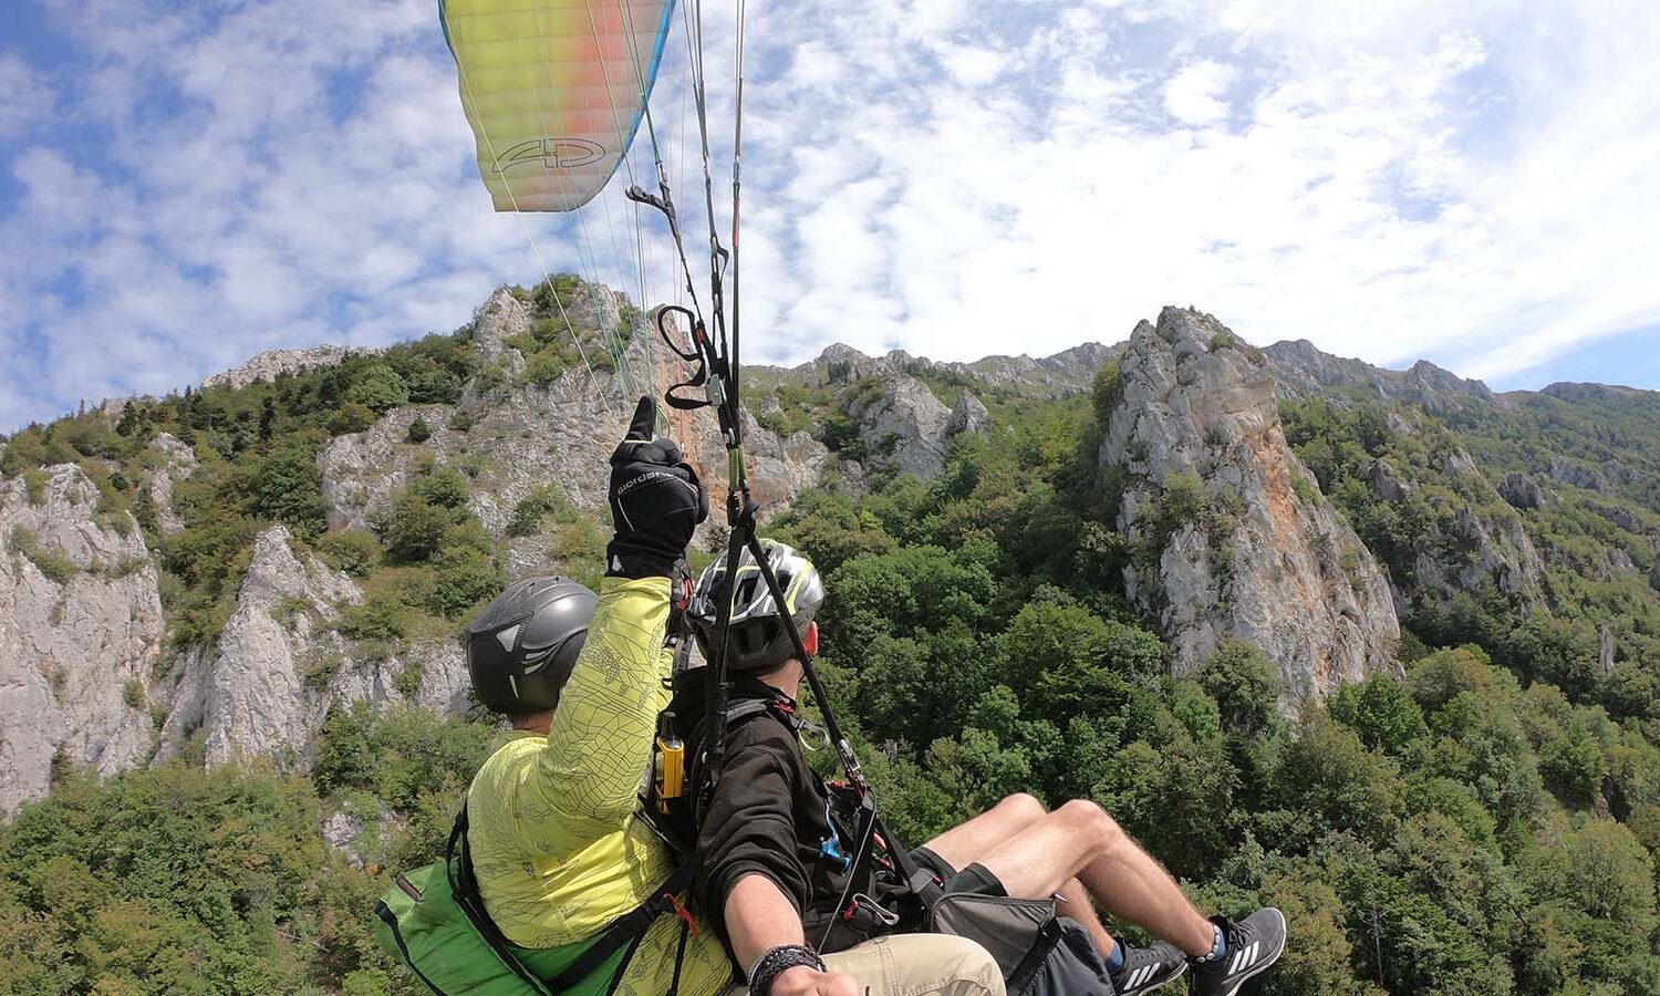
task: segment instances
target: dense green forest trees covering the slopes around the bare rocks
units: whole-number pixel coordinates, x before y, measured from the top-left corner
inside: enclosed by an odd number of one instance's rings
[[[521,345],[526,382],[569,362],[553,339]],[[364,579],[342,631],[395,644],[455,631],[498,591],[501,541],[466,511],[468,466],[438,463],[374,530],[330,533],[315,453],[392,407],[453,402],[478,374],[463,330],[133,402],[115,425],[33,427],[0,468],[32,480],[80,463],[111,515],[131,510],[181,644],[222,622],[269,523]],[[769,526],[827,571],[825,679],[906,840],[1014,792],[1094,798],[1205,906],[1286,911],[1291,945],[1258,993],[1660,994],[1653,398],[1585,388],[1436,413],[1343,392],[1286,400],[1290,443],[1406,599],[1401,677],[1293,717],[1257,646],[1225,642],[1172,676],[1127,603],[1124,566],[1159,549],[1124,540],[1122,481],[1097,460],[1116,365],[1056,400],[940,372],[928,385],[979,393],[993,430],[961,437],[931,483],[832,478]],[[840,395],[872,383],[754,390],[777,398],[769,420],[860,456]],[[133,486],[161,430],[203,460],[171,535]],[[1457,453],[1484,473],[1449,473]],[[1524,511],[1486,483],[1552,460],[1585,475],[1555,475]],[[1379,488],[1378,466],[1403,486]],[[1167,488],[1149,544],[1213,515],[1189,491]],[[1526,530],[1537,578],[1439,584],[1431,564],[1456,576],[1476,558],[1469,521]],[[515,510],[510,533],[538,530],[569,573],[598,573],[604,533],[558,488]],[[1628,571],[1597,569],[1610,549]],[[173,762],[100,782],[63,765],[51,797],[0,828],[0,989],[413,993],[369,908],[392,872],[437,855],[491,735],[486,717],[359,706],[329,717],[305,774]],[[324,842],[325,820],[350,828],[344,847]]]

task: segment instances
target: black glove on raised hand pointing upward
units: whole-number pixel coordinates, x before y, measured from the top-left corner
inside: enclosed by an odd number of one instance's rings
[[[611,455],[611,525],[606,574],[667,578],[686,556],[692,530],[709,518],[709,493],[674,440],[652,442],[657,402],[634,408],[627,435]]]

